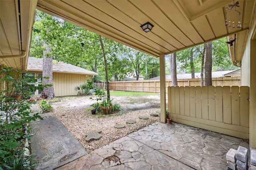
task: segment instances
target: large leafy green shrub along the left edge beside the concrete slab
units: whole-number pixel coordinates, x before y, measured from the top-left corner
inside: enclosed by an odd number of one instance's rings
[[[36,90],[42,91],[48,85],[33,86],[38,77],[29,76],[15,70],[14,68],[3,67],[0,70],[1,86],[5,88],[0,90],[0,167],[10,167],[14,169],[14,164],[19,160],[28,160],[21,158],[20,148],[27,138],[24,135],[24,127],[30,121],[37,118],[42,119],[38,113],[33,114],[30,109],[33,100],[26,100]],[[16,95],[22,95],[21,99],[16,99]],[[18,158],[17,158],[18,155]]]

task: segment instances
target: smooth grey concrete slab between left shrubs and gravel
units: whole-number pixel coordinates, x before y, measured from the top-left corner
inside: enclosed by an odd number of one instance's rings
[[[31,150],[38,160],[36,170],[52,170],[63,166],[88,152],[52,113],[42,114],[44,120],[30,123]]]

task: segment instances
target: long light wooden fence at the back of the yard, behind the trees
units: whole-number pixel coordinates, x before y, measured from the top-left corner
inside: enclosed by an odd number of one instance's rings
[[[178,79],[178,86],[200,86],[200,78]],[[106,83],[98,83],[99,87],[106,89]],[[101,85],[100,85],[101,84]],[[109,82],[110,90],[131,92],[160,92],[160,80],[137,80]],[[167,87],[172,86],[172,80],[166,80]],[[212,86],[240,86],[240,77],[212,78]]]

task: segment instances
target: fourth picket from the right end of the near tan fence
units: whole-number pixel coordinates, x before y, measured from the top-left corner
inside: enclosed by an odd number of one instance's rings
[[[215,87],[215,113],[216,121],[223,122],[223,103],[222,103],[222,87]]]

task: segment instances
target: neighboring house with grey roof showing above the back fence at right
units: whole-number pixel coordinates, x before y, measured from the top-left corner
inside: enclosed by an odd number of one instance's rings
[[[240,77],[241,71],[239,70],[229,70],[229,71],[215,71],[212,72],[212,78],[218,78],[218,77]],[[171,75],[165,76],[166,80],[171,80]],[[188,79],[191,78],[191,73],[188,74],[177,74],[177,79]],[[195,78],[201,78],[201,73],[197,72],[195,73]],[[160,77],[154,77],[149,78],[148,80],[160,80]]]

